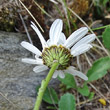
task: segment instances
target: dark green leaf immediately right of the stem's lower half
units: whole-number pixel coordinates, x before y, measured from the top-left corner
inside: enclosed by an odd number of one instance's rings
[[[37,87],[37,92],[40,86]],[[43,95],[43,101],[49,104],[58,104],[58,95],[53,88],[48,87]]]

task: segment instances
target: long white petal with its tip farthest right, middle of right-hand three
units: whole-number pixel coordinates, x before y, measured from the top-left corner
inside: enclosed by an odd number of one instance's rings
[[[82,38],[80,41],[78,41],[72,49],[75,49],[77,46],[81,45],[81,44],[88,44],[91,43],[92,41],[94,41],[96,38],[95,34],[90,34],[87,35],[86,37]]]

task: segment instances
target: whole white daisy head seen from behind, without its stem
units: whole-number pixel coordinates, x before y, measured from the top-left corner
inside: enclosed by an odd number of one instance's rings
[[[88,77],[82,72],[77,71],[71,63],[73,57],[83,54],[92,48],[91,42],[94,41],[96,37],[95,34],[86,35],[88,33],[88,28],[82,27],[73,32],[66,39],[62,32],[63,22],[57,19],[50,27],[49,39],[46,41],[37,26],[33,22],[31,23],[31,27],[35,30],[41,41],[43,50],[41,52],[34,45],[26,41],[21,42],[24,48],[35,54],[35,59],[23,58],[22,62],[37,65],[33,68],[33,71],[39,73],[50,69],[54,61],[57,60],[59,66],[54,72],[53,78],[57,76],[64,78],[65,73],[70,73],[84,80],[88,80]]]

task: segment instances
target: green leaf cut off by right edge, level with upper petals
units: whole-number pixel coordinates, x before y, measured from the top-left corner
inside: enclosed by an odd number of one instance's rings
[[[102,34],[103,44],[107,49],[110,49],[110,26],[108,26]]]

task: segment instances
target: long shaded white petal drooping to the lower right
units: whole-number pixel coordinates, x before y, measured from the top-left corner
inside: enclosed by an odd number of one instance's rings
[[[84,80],[88,80],[88,77],[85,74],[83,74],[80,71],[75,70],[74,67],[72,67],[72,66],[70,66],[68,68],[68,71],[70,72],[70,74],[72,74],[74,76],[78,76],[78,77],[80,77],[80,78],[82,78]]]

